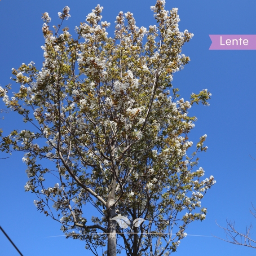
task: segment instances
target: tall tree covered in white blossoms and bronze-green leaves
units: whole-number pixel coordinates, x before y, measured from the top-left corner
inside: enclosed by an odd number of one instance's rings
[[[76,27],[77,39],[67,27],[60,32],[67,6],[55,32],[44,13],[42,70],[33,62],[13,69],[20,90],[11,99],[10,86],[0,88],[6,106],[34,125],[3,137],[1,149],[26,152],[25,190],[38,197],[37,209],[95,255],[175,252],[186,226],[205,219],[200,201],[215,183],[212,176],[200,180],[203,168],[192,171],[206,135],[186,155],[195,121],[188,109],[208,105],[211,94],[177,100],[172,75],[190,61],[181,48],[193,34],[179,31],[177,9],[164,4],[151,7],[158,26],[148,30],[120,12],[114,38],[100,5]],[[92,206],[98,216],[90,220]]]

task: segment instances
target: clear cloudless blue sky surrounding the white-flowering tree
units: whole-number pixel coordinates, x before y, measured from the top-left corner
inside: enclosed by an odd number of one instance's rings
[[[103,20],[111,23],[119,11],[134,14],[137,26],[154,24],[150,6],[155,0],[1,0],[0,1],[0,85],[9,84],[11,69],[22,62],[34,61],[40,68],[44,44],[41,13],[48,12],[51,24],[58,24],[57,12],[68,5],[71,18],[65,23],[71,34],[79,22],[97,4],[104,7]],[[194,38],[184,46],[183,53],[191,59],[183,71],[174,74],[173,85],[181,97],[207,88],[212,93],[210,106],[194,106],[190,115],[198,121],[190,140],[197,142],[207,134],[207,153],[199,155],[199,166],[206,176],[213,175],[216,185],[202,201],[207,207],[203,222],[194,222],[187,234],[225,238],[218,224],[235,221],[239,231],[256,223],[249,209],[256,206],[256,51],[210,51],[209,34],[256,34],[256,1],[252,0],[166,0],[166,9],[177,7],[181,31],[188,29]],[[73,31],[73,32],[72,32]],[[18,91],[18,86],[13,84]],[[3,108],[0,102],[0,108]],[[21,118],[14,113],[0,119],[4,131],[21,127]],[[0,225],[13,239],[24,256],[91,255],[80,241],[65,239],[60,225],[36,211],[35,195],[24,192],[27,177],[22,153],[0,160]],[[0,157],[5,157],[1,154]],[[256,233],[256,229],[252,233]],[[252,234],[253,236],[253,234]],[[256,238],[256,235],[254,236]],[[241,256],[255,255],[255,249],[235,246],[212,237],[188,236],[181,241],[176,256]],[[18,255],[0,233],[0,255]]]

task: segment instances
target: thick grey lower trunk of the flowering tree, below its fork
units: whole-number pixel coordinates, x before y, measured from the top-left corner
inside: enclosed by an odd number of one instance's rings
[[[116,256],[116,221],[111,220],[115,217],[115,201],[110,199],[107,203],[108,229],[107,229],[107,256]]]

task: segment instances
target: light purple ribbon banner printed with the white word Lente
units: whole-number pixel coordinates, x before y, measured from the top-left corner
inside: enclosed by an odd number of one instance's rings
[[[209,35],[209,50],[256,50],[256,35]]]

